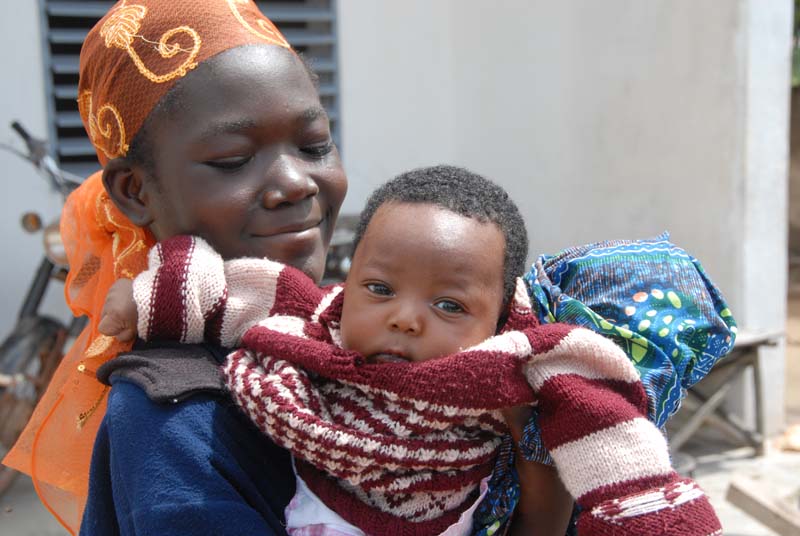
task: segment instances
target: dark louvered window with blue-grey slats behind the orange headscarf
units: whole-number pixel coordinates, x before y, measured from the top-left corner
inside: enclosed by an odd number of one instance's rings
[[[78,114],[78,56],[89,29],[114,2],[40,0],[47,42],[45,88],[54,156],[61,165],[86,176],[99,164]],[[320,76],[322,104],[339,141],[335,0],[257,2],[295,49],[311,58]]]

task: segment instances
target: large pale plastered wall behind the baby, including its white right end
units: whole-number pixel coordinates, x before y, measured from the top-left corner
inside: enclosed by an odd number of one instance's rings
[[[346,210],[402,170],[465,165],[515,195],[531,256],[669,230],[740,324],[783,327],[790,0],[339,11]]]

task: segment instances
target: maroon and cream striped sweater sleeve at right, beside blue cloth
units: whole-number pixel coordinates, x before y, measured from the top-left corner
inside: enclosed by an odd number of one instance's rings
[[[708,497],[671,466],[667,442],[647,419],[636,369],[611,340],[548,324],[559,340],[525,365],[539,400],[542,439],[582,511],[578,533],[722,534]]]

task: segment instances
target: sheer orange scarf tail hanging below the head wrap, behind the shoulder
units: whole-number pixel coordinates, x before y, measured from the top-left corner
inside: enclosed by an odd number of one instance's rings
[[[130,349],[97,331],[109,287],[119,277],[135,277],[147,266],[153,239],[111,202],[100,172],[68,199],[61,237],[70,259],[66,297],[75,315],[89,324],[72,345],[36,407],[28,426],[3,462],[31,475],[42,502],[66,527],[80,522],[89,459],[105,412],[107,387],[97,368]]]

